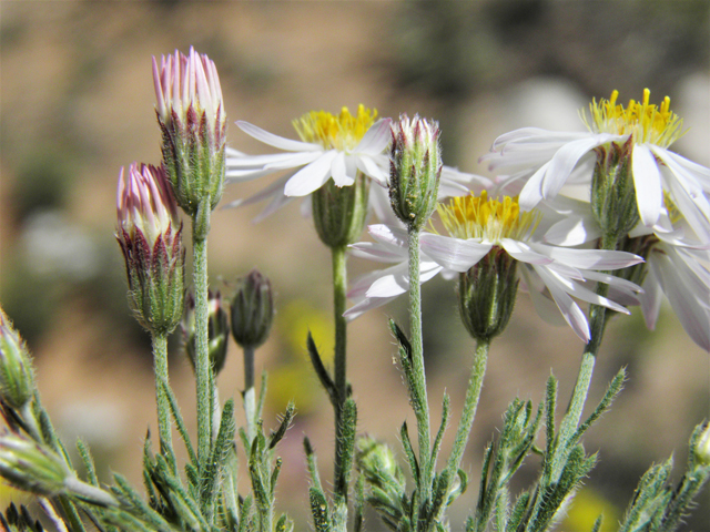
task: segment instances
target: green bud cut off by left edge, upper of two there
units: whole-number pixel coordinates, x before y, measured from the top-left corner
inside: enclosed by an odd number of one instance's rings
[[[27,346],[0,308],[0,399],[16,410],[34,393],[34,371]]]

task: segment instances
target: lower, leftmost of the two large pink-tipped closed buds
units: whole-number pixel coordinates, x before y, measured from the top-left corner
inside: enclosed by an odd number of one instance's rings
[[[125,258],[129,304],[153,334],[171,332],[182,316],[184,257],[182,223],[162,167],[121,168],[116,239]]]

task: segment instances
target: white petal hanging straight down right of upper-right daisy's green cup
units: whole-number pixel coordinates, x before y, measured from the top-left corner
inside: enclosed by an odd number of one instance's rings
[[[658,222],[661,214],[663,190],[658,163],[647,145],[636,144],[633,146],[631,168],[636,203],[639,207],[641,222],[647,227],[651,227]]]

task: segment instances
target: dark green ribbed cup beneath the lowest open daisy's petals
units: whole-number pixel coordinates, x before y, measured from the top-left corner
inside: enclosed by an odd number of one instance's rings
[[[518,291],[517,262],[494,246],[473,268],[459,275],[462,321],[477,341],[490,341],[508,326]]]

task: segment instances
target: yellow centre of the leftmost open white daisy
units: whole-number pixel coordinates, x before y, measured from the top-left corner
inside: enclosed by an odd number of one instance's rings
[[[343,108],[339,115],[311,111],[294,120],[293,126],[303,142],[321,144],[324,150],[346,152],[357,146],[376,117],[376,109],[365,109],[361,103],[357,116],[353,116],[347,108]]]

